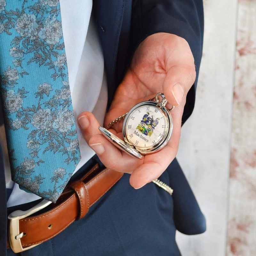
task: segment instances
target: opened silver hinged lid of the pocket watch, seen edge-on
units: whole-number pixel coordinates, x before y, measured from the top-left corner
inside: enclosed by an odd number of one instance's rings
[[[130,146],[128,143],[125,143],[123,140],[119,139],[116,135],[109,132],[107,129],[99,126],[99,130],[117,148],[123,150],[124,152],[128,153],[131,156],[143,159],[143,156],[136,149],[132,148],[132,146]]]

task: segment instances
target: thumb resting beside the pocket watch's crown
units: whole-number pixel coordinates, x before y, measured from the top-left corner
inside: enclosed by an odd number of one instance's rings
[[[163,91],[166,99],[174,106],[185,105],[186,96],[196,79],[194,62],[191,65],[176,65],[166,74]]]

